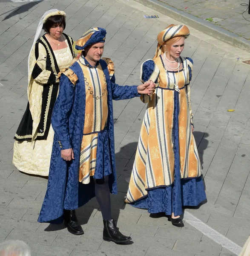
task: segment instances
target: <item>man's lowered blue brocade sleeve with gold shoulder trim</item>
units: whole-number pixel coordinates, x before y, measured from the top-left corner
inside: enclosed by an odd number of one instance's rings
[[[72,148],[69,136],[69,115],[72,110],[78,78],[68,69],[60,77],[59,94],[53,108],[51,124],[61,150]]]

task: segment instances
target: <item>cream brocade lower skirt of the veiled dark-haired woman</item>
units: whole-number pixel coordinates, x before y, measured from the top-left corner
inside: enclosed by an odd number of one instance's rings
[[[15,141],[13,164],[21,172],[49,176],[49,165],[54,139],[54,131],[50,125],[46,140]]]

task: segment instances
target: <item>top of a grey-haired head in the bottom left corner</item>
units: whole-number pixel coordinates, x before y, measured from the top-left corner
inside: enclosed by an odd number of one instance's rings
[[[7,240],[0,244],[0,256],[31,256],[31,252],[23,241]]]

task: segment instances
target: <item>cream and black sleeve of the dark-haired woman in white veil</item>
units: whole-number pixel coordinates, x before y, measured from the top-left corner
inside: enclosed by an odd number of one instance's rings
[[[47,52],[42,44],[36,42],[34,47],[35,65],[32,70],[32,78],[40,84],[54,84],[57,81],[56,74],[46,69]]]

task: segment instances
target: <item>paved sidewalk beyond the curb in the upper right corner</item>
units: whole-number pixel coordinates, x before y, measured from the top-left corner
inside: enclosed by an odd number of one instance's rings
[[[160,0],[183,12],[215,23],[224,29],[250,40],[250,15],[247,6],[249,0]],[[244,12],[245,20],[242,16]]]

